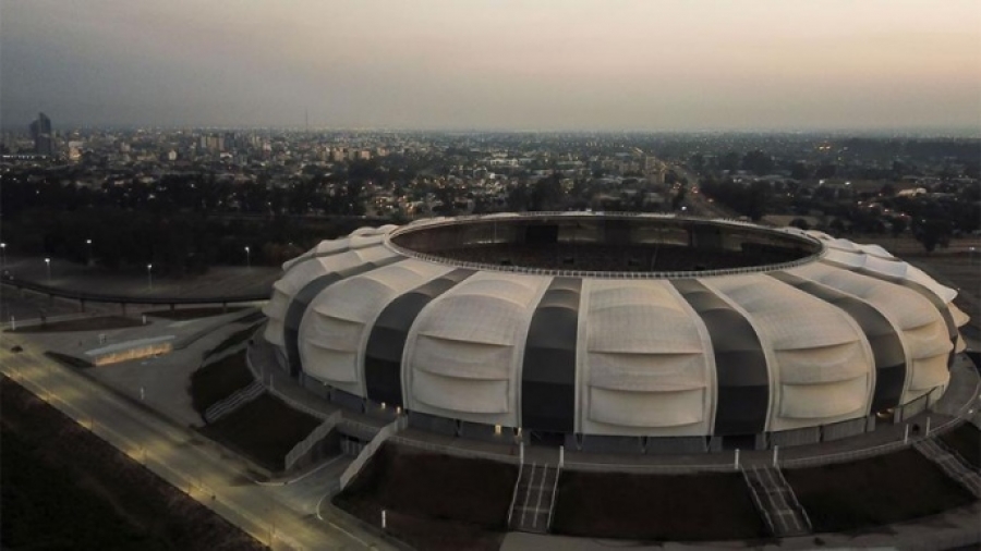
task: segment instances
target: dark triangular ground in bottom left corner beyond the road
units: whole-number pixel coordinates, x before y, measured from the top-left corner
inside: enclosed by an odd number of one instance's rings
[[[13,381],[0,381],[4,549],[264,549]]]

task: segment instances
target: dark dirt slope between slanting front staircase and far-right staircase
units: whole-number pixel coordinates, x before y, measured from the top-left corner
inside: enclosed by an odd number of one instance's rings
[[[814,531],[851,531],[930,516],[974,497],[912,449],[868,460],[786,469]]]

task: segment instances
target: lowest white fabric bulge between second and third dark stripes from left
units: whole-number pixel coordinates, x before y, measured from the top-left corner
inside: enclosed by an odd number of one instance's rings
[[[443,411],[449,417],[469,417],[465,414],[504,415],[511,412],[509,381],[465,380],[426,371],[412,377],[412,395],[419,404]],[[414,411],[425,409],[414,407]],[[432,412],[436,413],[439,412]]]

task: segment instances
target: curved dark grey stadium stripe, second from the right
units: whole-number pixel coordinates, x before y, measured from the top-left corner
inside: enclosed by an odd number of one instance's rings
[[[833,304],[851,316],[862,328],[875,359],[875,390],[872,413],[899,405],[906,381],[906,354],[893,325],[873,306],[828,285],[806,280],[787,272],[772,272],[771,277]]]

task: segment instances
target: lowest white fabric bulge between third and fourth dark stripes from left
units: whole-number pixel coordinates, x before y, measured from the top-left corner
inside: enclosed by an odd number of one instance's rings
[[[590,420],[637,429],[685,427],[702,424],[705,389],[678,392],[621,392],[590,389]],[[647,430],[650,431],[650,430]]]

